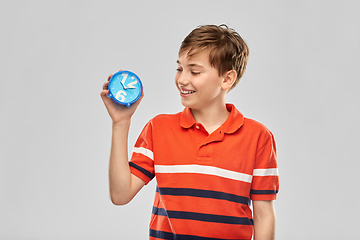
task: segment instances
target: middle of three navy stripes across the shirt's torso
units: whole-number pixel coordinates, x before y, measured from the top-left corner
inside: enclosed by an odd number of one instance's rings
[[[154,215],[166,216],[175,219],[188,219],[202,222],[226,223],[238,225],[253,225],[253,220],[246,217],[233,217],[225,215],[214,215],[197,212],[166,211],[164,208],[153,207]]]

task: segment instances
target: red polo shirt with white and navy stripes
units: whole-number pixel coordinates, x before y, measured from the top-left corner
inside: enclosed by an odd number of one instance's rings
[[[231,104],[210,135],[189,108],[150,120],[130,160],[131,172],[157,187],[149,239],[251,239],[250,200],[279,189],[272,133]]]

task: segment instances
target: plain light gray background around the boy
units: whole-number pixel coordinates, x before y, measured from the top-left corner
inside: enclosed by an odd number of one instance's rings
[[[182,110],[177,51],[201,24],[250,47],[228,95],[275,134],[277,239],[360,239],[359,1],[1,1],[0,239],[147,239],[155,181],[108,195],[107,76],[136,72],[145,98],[129,144]]]

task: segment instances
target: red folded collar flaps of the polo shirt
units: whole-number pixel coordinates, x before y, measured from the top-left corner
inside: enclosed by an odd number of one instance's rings
[[[235,108],[233,104],[226,104],[227,110],[230,112],[228,119],[222,124],[225,133],[231,134],[236,132],[244,123],[244,116]],[[194,116],[190,108],[185,108],[181,113],[180,125],[183,128],[191,128],[196,124]]]

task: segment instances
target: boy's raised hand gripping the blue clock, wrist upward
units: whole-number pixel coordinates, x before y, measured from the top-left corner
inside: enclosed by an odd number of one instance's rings
[[[121,70],[120,70],[121,71]],[[142,98],[144,97],[144,91],[142,92],[141,97],[135,103],[133,103],[130,107],[122,106],[116,104],[113,100],[109,98],[109,81],[112,77],[112,74],[108,77],[107,81],[103,84],[103,90],[100,93],[100,96],[105,104],[105,107],[113,121],[113,124],[120,123],[121,121],[131,119],[131,116],[134,114],[136,108],[140,104]]]

